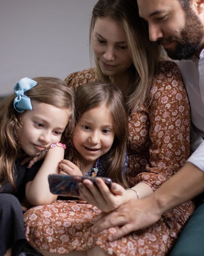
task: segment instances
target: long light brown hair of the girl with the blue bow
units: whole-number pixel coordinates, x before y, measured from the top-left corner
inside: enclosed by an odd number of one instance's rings
[[[69,109],[71,116],[62,134],[62,142],[70,144],[74,129],[74,93],[66,83],[55,77],[35,77],[38,84],[25,92],[32,102],[42,102],[52,106]],[[9,181],[15,190],[15,163],[21,155],[19,113],[13,107],[16,95],[4,97],[0,101],[0,189]],[[30,111],[30,110],[28,110]]]

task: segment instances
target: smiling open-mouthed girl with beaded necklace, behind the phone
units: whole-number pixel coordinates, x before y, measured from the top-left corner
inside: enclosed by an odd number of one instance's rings
[[[78,88],[75,97],[73,147],[60,168],[71,175],[107,176],[124,184],[120,170],[127,162],[128,121],[122,93],[111,84],[93,82]]]

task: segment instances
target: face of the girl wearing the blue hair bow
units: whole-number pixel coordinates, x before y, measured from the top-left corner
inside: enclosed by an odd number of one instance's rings
[[[69,120],[69,110],[34,102],[33,110],[20,114],[20,146],[29,156],[37,156],[61,140]]]

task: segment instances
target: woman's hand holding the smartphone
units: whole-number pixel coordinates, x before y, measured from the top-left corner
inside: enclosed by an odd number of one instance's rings
[[[112,183],[110,190],[101,178],[97,177],[95,182],[97,186],[89,179],[84,179],[79,184],[80,196],[104,212],[113,211],[132,198],[137,199],[134,191],[125,190],[117,183]]]

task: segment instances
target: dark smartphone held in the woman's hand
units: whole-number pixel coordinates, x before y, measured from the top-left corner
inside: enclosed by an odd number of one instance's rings
[[[48,176],[50,192],[55,195],[62,195],[67,197],[79,197],[79,182],[84,179],[89,179],[95,184],[95,178],[92,176],[75,176],[75,175],[62,175],[50,174]],[[100,177],[104,180],[105,184],[111,188],[112,180],[106,177]],[[97,186],[97,185],[96,185]]]

